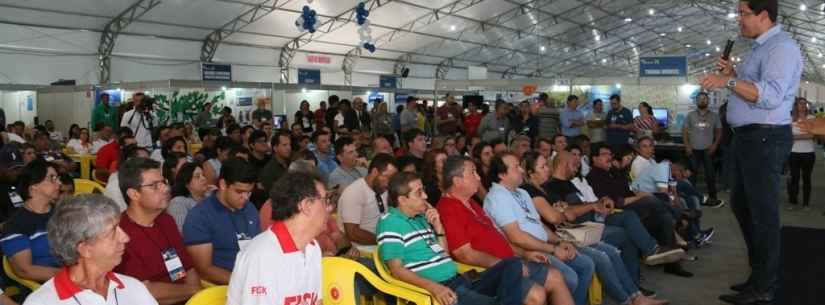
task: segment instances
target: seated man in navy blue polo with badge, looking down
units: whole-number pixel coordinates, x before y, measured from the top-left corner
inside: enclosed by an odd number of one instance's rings
[[[226,285],[235,256],[261,232],[258,210],[249,201],[255,188],[255,169],[241,159],[221,167],[218,191],[189,211],[183,242],[201,277]]]

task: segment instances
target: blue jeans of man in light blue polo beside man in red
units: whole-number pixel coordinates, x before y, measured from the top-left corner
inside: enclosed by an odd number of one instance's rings
[[[576,255],[576,258],[569,262],[562,262],[553,255],[548,255],[548,257],[550,265],[559,269],[564,276],[564,282],[573,294],[573,301],[576,305],[587,305],[587,290],[590,289],[593,271],[596,269],[593,260],[581,254]]]

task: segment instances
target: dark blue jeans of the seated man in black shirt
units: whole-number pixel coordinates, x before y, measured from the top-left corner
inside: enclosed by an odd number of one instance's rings
[[[640,256],[656,252],[656,239],[647,232],[636,213],[621,212],[605,219],[602,241],[621,249],[622,261],[634,283],[639,284]]]

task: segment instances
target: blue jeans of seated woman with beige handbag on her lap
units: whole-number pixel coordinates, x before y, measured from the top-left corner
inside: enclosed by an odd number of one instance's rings
[[[603,242],[589,247],[578,248],[579,253],[590,257],[596,264],[596,274],[602,281],[607,295],[620,304],[630,303],[631,297],[639,292],[639,287],[630,278],[619,256],[619,249]]]

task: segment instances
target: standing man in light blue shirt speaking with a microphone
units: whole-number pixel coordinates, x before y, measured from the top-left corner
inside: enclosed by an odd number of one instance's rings
[[[751,274],[719,297],[737,305],[773,304],[779,286],[779,191],[782,163],[793,142],[791,108],[802,75],[796,41],[777,24],[777,0],[740,0],[742,36],[754,39],[735,70],[726,58],[718,74],[700,80],[705,90],[730,90],[733,128],[731,207],[748,248]]]

